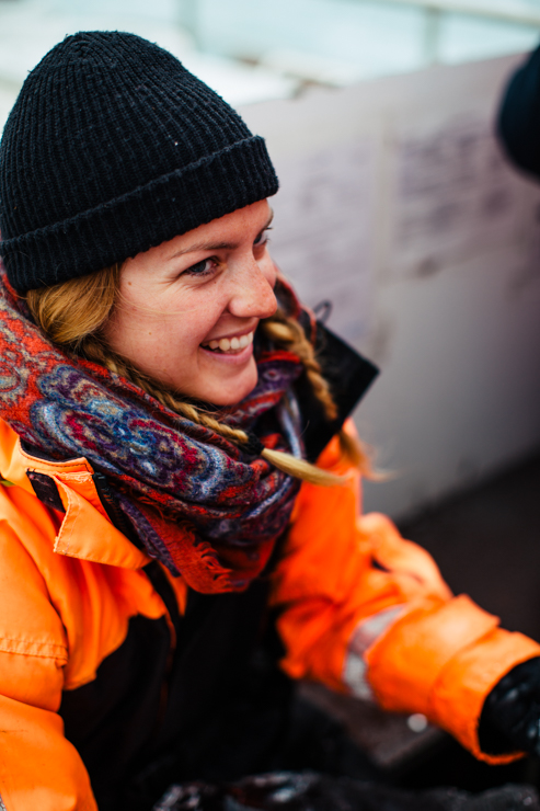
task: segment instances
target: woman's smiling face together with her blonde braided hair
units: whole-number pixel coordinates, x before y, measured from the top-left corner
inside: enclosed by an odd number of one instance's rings
[[[268,299],[271,311],[274,313],[277,309],[274,293],[277,271],[267,252],[265,238],[272,215],[266,217],[262,229],[260,222],[255,229],[258,233],[253,241],[249,228],[250,219],[254,218],[255,222],[257,220],[254,209],[262,210],[263,204],[268,214],[265,201],[246,206],[171,240],[170,243],[164,242],[140,253],[134,260],[127,260],[122,269],[116,264],[91,276],[28,290],[26,302],[37,323],[56,344],[97,361],[115,374],[124,375],[168,408],[241,446],[250,446],[286,473],[315,484],[341,483],[335,475],[313,467],[299,458],[300,455],[294,457],[276,448],[265,447],[253,435],[219,421],[212,413],[216,406],[234,404],[255,389],[258,370],[253,355],[253,336],[260,319],[252,315],[249,319],[251,329],[246,332],[244,325],[243,334],[240,330],[237,335],[221,335],[219,339],[208,340],[207,335],[206,340],[198,342],[205,327],[209,324],[209,318],[210,321],[217,318],[219,325],[231,325],[231,321],[239,320],[240,304],[245,322],[246,311],[242,302],[246,300],[250,313],[264,312]],[[202,240],[205,232],[208,236],[214,233],[215,239],[209,236]],[[227,232],[229,241],[218,239],[219,232]],[[234,236],[235,241],[232,239]],[[239,251],[242,244],[244,248],[248,245],[248,264],[251,267],[246,278],[238,272],[238,261],[234,261],[239,256],[245,260]],[[208,254],[212,251],[219,251],[221,259],[214,254],[189,265],[193,254]],[[230,267],[225,261],[226,256],[229,256]],[[189,266],[182,270],[186,264]],[[241,266],[242,264],[245,261]],[[264,271],[261,274],[261,269],[266,269],[271,286]],[[216,300],[211,288],[208,290],[204,284],[207,279],[216,279],[226,270],[226,292],[230,295],[234,283],[237,285],[231,301],[227,295],[225,300],[222,297],[221,300]],[[192,279],[191,285],[187,283],[187,289],[196,289],[203,285],[198,294],[198,308],[193,296],[189,299],[186,289],[182,288],[180,277]],[[174,290],[171,296],[170,288],[173,282],[176,297],[179,287],[184,292],[180,308],[170,310],[168,308],[171,307],[171,299],[174,300]],[[157,300],[160,297],[163,299],[165,294],[168,297],[164,304]],[[337,409],[329,385],[321,375],[313,346],[296,320],[278,312],[275,318],[265,319],[263,333],[301,359],[326,420],[335,421]],[[238,346],[234,345],[237,343]],[[203,409],[195,408],[191,402],[193,400],[206,404]],[[351,460],[358,468],[368,471],[368,460],[357,438],[341,431],[340,442]]]

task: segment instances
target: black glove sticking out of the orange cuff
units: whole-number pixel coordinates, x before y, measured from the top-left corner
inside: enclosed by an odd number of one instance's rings
[[[485,699],[479,736],[484,752],[540,754],[540,659],[522,662]]]

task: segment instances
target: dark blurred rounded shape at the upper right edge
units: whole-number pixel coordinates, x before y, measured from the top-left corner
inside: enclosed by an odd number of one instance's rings
[[[509,158],[540,178],[540,47],[512,77],[501,104],[497,130]]]

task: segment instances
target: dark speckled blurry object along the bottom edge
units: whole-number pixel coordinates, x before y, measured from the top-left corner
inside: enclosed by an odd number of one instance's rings
[[[452,788],[402,791],[313,772],[246,777],[228,786],[172,786],[153,811],[540,811],[527,786],[503,786],[481,795]]]

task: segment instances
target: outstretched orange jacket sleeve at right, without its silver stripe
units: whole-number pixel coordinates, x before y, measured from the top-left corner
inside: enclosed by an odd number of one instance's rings
[[[333,488],[303,483],[297,499],[273,581],[284,670],[348,692],[355,635],[387,616],[391,621],[363,655],[380,705],[423,712],[478,757],[509,759],[481,753],[480,712],[499,678],[540,655],[540,646],[499,629],[468,597],[453,597],[432,557],[386,516],[358,517],[358,481],[336,438],[318,464],[347,480]]]

